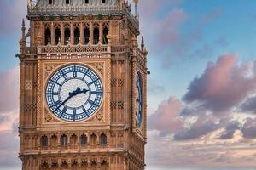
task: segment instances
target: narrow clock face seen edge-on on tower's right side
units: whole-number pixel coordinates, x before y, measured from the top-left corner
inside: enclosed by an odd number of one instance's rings
[[[137,127],[142,126],[143,122],[143,83],[142,83],[142,77],[141,74],[137,73],[137,81],[136,81],[136,87],[137,87],[137,98],[136,98],[136,125]]]

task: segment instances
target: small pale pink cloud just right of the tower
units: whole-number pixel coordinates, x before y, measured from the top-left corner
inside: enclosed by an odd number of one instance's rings
[[[182,103],[177,97],[171,96],[163,101],[158,109],[148,117],[148,128],[158,130],[161,135],[174,133],[183,127],[183,120],[178,117]]]

